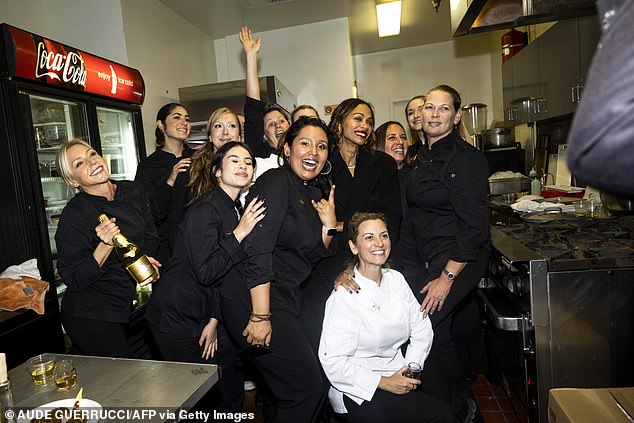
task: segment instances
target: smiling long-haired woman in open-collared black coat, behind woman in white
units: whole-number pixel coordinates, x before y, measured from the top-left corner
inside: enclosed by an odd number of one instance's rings
[[[380,212],[385,215],[390,237],[395,242],[401,225],[397,166],[392,157],[376,150],[372,105],[359,98],[342,101],[335,108],[328,129],[335,142],[329,176],[337,186],[338,230],[347,230],[355,212]],[[337,243],[337,254],[323,260],[304,287],[318,319],[323,319],[333,281],[352,260],[346,240],[338,237]]]

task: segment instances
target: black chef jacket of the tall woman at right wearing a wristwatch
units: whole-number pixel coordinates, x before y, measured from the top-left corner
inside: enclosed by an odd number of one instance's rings
[[[488,176],[484,154],[455,133],[420,148],[407,202],[423,260],[474,261],[489,248]]]

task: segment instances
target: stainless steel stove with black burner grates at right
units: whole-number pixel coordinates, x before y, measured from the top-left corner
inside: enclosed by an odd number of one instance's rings
[[[551,388],[634,385],[634,216],[528,223],[492,201],[491,221],[478,296],[511,403],[546,423]]]

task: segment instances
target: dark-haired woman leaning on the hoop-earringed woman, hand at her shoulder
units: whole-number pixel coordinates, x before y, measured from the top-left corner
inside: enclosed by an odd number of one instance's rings
[[[172,265],[157,284],[145,314],[154,339],[170,361],[217,363],[225,411],[239,412],[243,386],[236,377],[235,351],[219,325],[219,287],[244,274],[244,238],[264,218],[252,200],[242,216],[235,202],[251,183],[255,160],[238,142],[221,146],[211,161],[212,189],[185,213],[176,236]]]

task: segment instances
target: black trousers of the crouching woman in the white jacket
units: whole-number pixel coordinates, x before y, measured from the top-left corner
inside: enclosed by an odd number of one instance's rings
[[[420,389],[405,395],[377,389],[372,401],[361,405],[343,396],[348,410],[338,414],[338,419],[350,423],[455,423],[456,418],[449,404],[427,395]]]

